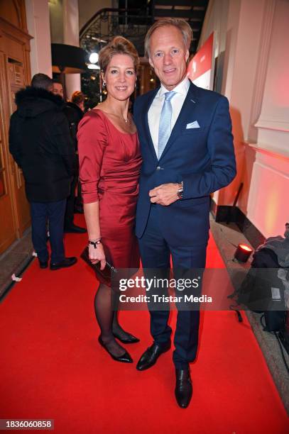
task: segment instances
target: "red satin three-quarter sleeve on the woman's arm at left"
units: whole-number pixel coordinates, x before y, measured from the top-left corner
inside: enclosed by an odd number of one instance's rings
[[[89,111],[80,121],[77,141],[82,199],[84,204],[92,204],[99,200],[97,186],[107,145],[107,129],[96,110]]]

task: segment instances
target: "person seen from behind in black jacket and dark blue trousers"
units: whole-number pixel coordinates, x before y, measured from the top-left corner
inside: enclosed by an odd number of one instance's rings
[[[48,267],[46,223],[49,221],[50,269],[70,267],[76,257],[65,257],[63,223],[71,179],[75,174],[75,150],[62,108],[52,93],[53,82],[45,74],[34,75],[31,86],[16,94],[9,150],[21,167],[26,196],[31,204],[32,240],[40,268]]]

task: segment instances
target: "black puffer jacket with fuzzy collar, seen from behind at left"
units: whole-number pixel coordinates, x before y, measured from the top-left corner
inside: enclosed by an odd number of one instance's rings
[[[65,199],[75,174],[75,149],[63,99],[45,89],[26,87],[17,92],[16,105],[9,150],[23,170],[28,201]]]

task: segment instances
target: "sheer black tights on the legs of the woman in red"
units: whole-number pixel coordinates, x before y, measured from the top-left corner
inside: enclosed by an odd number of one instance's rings
[[[124,355],[126,350],[116,342],[113,333],[117,333],[121,338],[126,338],[128,333],[121,328],[117,318],[118,312],[116,308],[118,306],[119,295],[111,291],[109,286],[104,284],[99,285],[94,299],[94,311],[101,330],[103,343],[113,355],[119,357],[120,355]]]

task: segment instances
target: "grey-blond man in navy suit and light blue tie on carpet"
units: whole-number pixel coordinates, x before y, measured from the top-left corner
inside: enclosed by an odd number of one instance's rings
[[[227,98],[187,78],[192,30],[164,18],[148,30],[146,53],[160,87],[136,99],[134,119],[143,165],[136,214],[144,269],[205,268],[209,194],[236,174]],[[138,361],[142,371],[170,349],[168,310],[150,310],[153,345]],[[175,330],[175,397],[186,408],[192,397],[189,362],[197,353],[199,310],[179,310]]]

